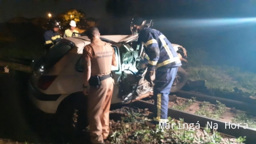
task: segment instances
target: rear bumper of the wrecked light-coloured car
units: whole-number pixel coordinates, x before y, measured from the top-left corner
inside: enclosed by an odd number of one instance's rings
[[[42,112],[55,114],[59,103],[68,95],[47,95],[39,90],[36,90],[29,81],[29,98],[31,102]]]

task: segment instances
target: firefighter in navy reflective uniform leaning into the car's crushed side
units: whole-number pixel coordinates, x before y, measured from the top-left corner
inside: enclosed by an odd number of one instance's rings
[[[181,60],[172,47],[171,42],[160,31],[150,28],[150,24],[141,18],[134,18],[130,29],[133,34],[139,34],[138,42],[144,45],[147,62],[145,79],[151,82],[151,76],[155,71],[154,101],[155,109],[153,120],[146,125],[155,127],[159,122],[167,123],[168,95],[171,91],[173,80],[176,77]]]

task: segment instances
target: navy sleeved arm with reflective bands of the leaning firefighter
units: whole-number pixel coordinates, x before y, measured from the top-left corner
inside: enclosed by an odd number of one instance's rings
[[[154,71],[160,54],[156,36],[152,33],[146,35],[146,42],[143,45],[146,47],[145,52],[148,55],[148,71]]]

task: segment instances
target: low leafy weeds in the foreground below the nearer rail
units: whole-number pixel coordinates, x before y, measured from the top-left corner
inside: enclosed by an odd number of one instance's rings
[[[174,120],[170,117],[168,124],[170,127],[162,128],[156,125],[151,129],[144,124],[148,120],[143,115],[137,113],[133,120],[123,118],[119,123],[111,123],[110,136],[108,140],[111,143],[241,143],[245,137],[238,139],[224,139],[219,132],[210,129],[199,130],[198,125],[189,125],[183,122],[183,119]],[[130,117],[132,117],[130,115]],[[137,119],[139,118],[139,119]],[[113,126],[113,125],[118,125]]]

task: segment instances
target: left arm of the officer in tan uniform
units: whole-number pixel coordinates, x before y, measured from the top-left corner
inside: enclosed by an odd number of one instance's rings
[[[84,47],[83,59],[84,59],[84,86],[88,86],[89,80],[91,77],[91,53],[90,53],[89,46]]]

